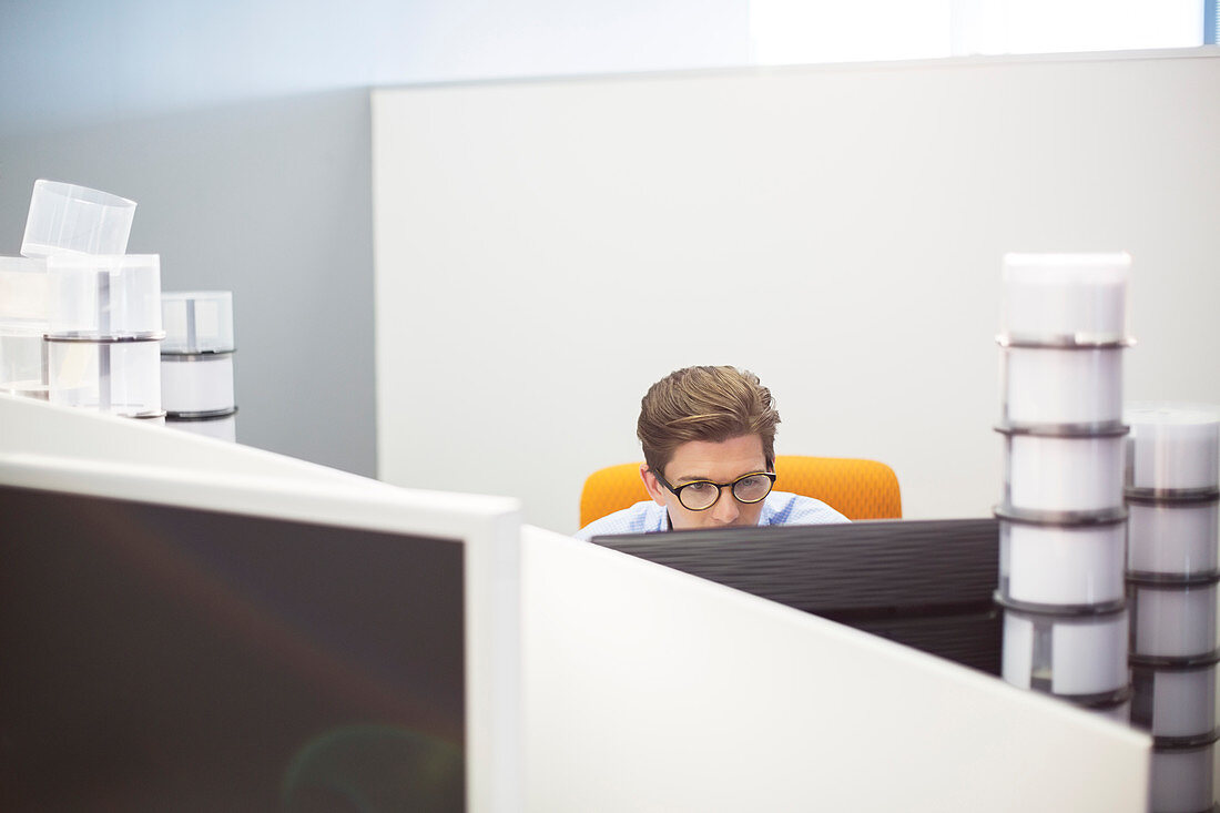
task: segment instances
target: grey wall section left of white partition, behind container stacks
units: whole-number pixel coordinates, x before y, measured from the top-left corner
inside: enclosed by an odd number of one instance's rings
[[[368,99],[325,92],[6,136],[0,253],[48,177],[138,201],[163,291],[233,292],[238,439],[372,474]]]

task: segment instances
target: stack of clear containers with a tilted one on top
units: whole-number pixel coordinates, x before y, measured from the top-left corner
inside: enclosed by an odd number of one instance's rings
[[[51,403],[160,421],[161,261],[128,255],[135,204],[37,181],[21,253],[45,261]]]

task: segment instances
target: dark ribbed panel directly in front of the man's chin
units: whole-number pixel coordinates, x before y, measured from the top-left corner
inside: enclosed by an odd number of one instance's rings
[[[994,519],[669,531],[593,542],[1000,674]]]

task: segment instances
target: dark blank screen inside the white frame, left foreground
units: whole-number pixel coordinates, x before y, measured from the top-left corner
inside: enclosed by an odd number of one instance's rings
[[[0,809],[465,809],[462,544],[15,487],[0,522]]]

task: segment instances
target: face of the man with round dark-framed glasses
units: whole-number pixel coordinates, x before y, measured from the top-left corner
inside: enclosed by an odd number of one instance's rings
[[[762,438],[743,435],[720,443],[689,441],[680,446],[661,476],[673,486],[693,480],[710,480],[730,483],[754,471],[766,471]],[[762,503],[739,503],[728,488],[722,488],[720,499],[711,508],[692,511],[678,502],[677,494],[658,482],[647,466],[640,468],[648,494],[670,511],[675,530],[691,527],[720,527],[725,525],[758,525],[762,515]]]

